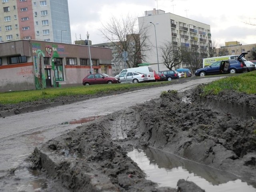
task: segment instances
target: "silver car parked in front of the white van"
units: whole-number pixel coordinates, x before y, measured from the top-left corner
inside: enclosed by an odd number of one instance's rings
[[[120,78],[121,83],[138,83],[148,81],[147,74],[142,74],[138,72],[124,72],[117,76],[117,78]]]

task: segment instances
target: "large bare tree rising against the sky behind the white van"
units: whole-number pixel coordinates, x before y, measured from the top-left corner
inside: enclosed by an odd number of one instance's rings
[[[115,58],[122,60],[123,51],[128,52],[126,64],[128,68],[136,67],[142,61],[145,61],[146,56],[143,52],[149,50],[146,43],[148,38],[147,28],[142,26],[138,28],[138,18],[134,16],[126,16],[126,18],[112,17],[110,22],[102,24],[100,32],[108,42],[116,45]]]

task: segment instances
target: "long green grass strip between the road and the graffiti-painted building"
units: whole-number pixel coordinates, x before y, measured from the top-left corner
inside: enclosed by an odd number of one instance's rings
[[[46,88],[44,90],[24,90],[0,93],[0,104],[16,104],[20,102],[32,102],[41,99],[54,99],[60,96],[71,95],[97,95],[108,94],[115,91],[125,91],[134,88],[168,85],[172,82],[146,82],[146,83],[124,83],[124,84],[100,84],[90,86],[75,86],[66,88]]]

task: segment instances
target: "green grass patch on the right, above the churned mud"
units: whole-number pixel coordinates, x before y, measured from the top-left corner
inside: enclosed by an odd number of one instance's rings
[[[235,90],[246,94],[256,94],[256,71],[211,82],[204,86],[203,95],[216,95],[222,90]]]

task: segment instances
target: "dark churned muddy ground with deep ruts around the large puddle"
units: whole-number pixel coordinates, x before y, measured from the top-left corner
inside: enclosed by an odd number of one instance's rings
[[[38,146],[28,161],[53,181],[41,191],[203,191],[185,180],[175,189],[146,180],[126,155],[144,147],[225,170],[256,188],[256,95],[202,97],[202,86],[170,90]]]

